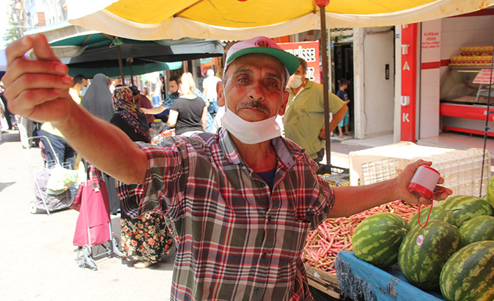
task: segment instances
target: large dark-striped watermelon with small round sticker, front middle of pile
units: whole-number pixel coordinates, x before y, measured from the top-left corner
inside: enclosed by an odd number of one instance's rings
[[[449,256],[463,247],[463,237],[451,223],[433,219],[425,228],[414,227],[404,237],[398,265],[414,286],[426,290],[439,286],[439,274]]]

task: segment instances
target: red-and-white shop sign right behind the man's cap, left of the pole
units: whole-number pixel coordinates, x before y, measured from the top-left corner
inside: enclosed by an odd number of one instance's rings
[[[319,41],[278,43],[278,45],[286,52],[295,55],[295,57],[304,59],[307,62],[306,77],[320,84]]]

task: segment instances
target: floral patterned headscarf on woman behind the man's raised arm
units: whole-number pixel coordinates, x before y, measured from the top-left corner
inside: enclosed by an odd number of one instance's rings
[[[116,87],[113,91],[113,108],[120,117],[122,117],[136,133],[141,134],[146,142],[150,142],[149,128],[147,124],[141,122],[138,113],[144,113],[139,109],[132,99],[132,90],[129,87]]]

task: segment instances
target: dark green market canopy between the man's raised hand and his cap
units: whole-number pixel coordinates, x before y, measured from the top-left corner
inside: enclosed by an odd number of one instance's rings
[[[224,54],[220,41],[197,38],[137,41],[84,29],[68,22],[27,31],[26,34],[38,33],[45,34],[57,56],[69,66],[69,74],[87,77],[97,73],[123,77],[124,73],[132,75],[174,70],[181,68],[181,61]]]

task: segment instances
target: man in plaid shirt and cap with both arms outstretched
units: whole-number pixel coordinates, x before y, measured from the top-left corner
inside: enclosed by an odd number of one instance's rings
[[[31,48],[39,61],[24,57]],[[269,38],[230,48],[218,135],[176,136],[160,146],[136,144],[69,101],[71,78],[44,36],[24,36],[6,54],[12,111],[52,122],[94,166],[144,184],[120,189],[122,199],[137,200],[125,204],[128,212],[169,217],[177,248],[171,300],[312,300],[301,260],[309,230],[391,200],[431,202],[407,189],[416,168],[431,162],[369,186],[331,188],[316,175],[317,164],[273,123],[284,113],[298,60]],[[451,194],[444,191],[437,199]]]

